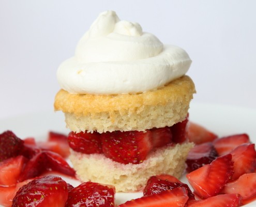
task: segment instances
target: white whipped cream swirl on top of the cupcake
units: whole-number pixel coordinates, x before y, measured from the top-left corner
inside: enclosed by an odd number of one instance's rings
[[[139,93],[183,76],[190,64],[180,47],[163,45],[138,23],[106,11],[81,38],[74,57],[59,66],[57,80],[70,93]]]

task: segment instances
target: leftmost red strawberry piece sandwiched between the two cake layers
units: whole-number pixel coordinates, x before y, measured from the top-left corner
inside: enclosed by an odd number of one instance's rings
[[[101,139],[98,132],[70,132],[68,144],[71,149],[85,154],[102,153]]]

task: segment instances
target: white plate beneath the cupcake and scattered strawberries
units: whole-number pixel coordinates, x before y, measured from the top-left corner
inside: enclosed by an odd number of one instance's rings
[[[256,109],[192,103],[189,117],[191,121],[205,126],[219,136],[247,133],[252,142],[256,143]],[[65,128],[64,115],[61,112],[41,112],[0,120],[0,133],[6,130],[13,131],[20,138],[35,137],[37,140],[46,139],[49,131],[69,132]],[[77,181],[64,179],[73,186],[79,184]],[[185,176],[181,180],[187,183]],[[117,193],[116,203],[140,196],[142,193]],[[244,206],[256,206],[256,201]]]

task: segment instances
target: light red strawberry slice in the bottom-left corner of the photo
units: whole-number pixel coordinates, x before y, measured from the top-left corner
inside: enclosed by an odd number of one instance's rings
[[[0,186],[0,205],[11,207],[12,200],[14,196],[16,195],[17,191],[28,182],[32,181],[34,179],[29,179],[20,183],[17,183],[17,185],[13,186]]]

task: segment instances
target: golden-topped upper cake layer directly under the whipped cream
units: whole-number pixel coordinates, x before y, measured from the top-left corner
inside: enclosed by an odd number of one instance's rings
[[[194,84],[185,75],[139,94],[71,94],[60,90],[54,107],[65,113],[67,128],[73,132],[144,131],[184,120],[193,93]]]

